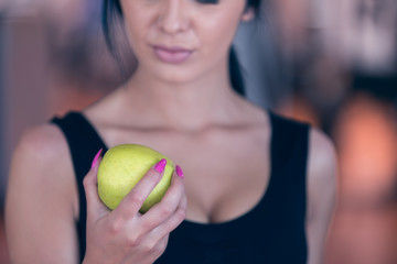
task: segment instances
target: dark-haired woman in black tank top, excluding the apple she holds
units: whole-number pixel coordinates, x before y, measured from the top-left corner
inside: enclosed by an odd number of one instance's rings
[[[22,138],[7,197],[14,263],[321,262],[334,199],[332,144],[253,106],[229,80],[236,29],[259,6],[105,1],[105,23],[122,15],[138,67],[100,101]],[[148,145],[183,168],[144,215],[138,210],[161,164],[114,211],[97,195],[98,150],[121,143]]]

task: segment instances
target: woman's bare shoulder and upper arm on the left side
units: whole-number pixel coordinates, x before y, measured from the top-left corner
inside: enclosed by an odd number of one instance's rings
[[[76,194],[68,146],[61,130],[53,124],[29,129],[13,153],[6,198],[13,263],[76,260]]]

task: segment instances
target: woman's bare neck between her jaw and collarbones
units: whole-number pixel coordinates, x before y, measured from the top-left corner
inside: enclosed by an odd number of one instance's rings
[[[141,123],[180,130],[197,130],[230,123],[240,98],[233,91],[228,73],[208,74],[189,82],[167,82],[137,72],[122,100],[139,112]],[[150,103],[148,103],[150,102]]]

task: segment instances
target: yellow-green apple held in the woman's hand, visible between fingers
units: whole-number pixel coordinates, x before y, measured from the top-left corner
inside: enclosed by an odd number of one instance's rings
[[[108,150],[98,167],[98,194],[101,201],[114,210],[149,168],[162,158],[167,160],[163,177],[143,202],[141,213],[147,212],[165,195],[175,168],[173,162],[163,154],[138,144],[121,144]]]

